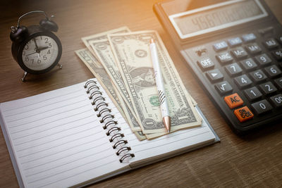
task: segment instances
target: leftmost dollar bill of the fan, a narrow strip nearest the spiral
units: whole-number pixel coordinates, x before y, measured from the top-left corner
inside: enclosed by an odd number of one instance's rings
[[[136,137],[140,140],[146,139],[142,132],[140,132],[140,126],[137,124],[134,115],[126,106],[123,99],[120,99],[118,97],[118,94],[116,94],[116,88],[114,87],[114,84],[111,83],[106,70],[104,70],[104,67],[101,65],[101,63],[99,63],[97,58],[92,56],[91,52],[88,49],[80,49],[78,51],[75,51],[75,53],[97,78],[111,100],[114,102],[116,108],[118,108],[118,111],[121,112],[123,118],[125,118],[125,120],[128,122],[128,125],[130,125],[131,130],[139,131],[135,133]]]

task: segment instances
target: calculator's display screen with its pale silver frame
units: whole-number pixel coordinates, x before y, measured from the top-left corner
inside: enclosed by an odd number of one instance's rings
[[[267,15],[258,0],[233,0],[169,16],[181,39],[246,23]]]

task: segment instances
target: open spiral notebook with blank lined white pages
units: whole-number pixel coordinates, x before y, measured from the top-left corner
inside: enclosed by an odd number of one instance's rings
[[[2,103],[0,123],[20,187],[80,187],[219,141],[197,111],[201,127],[140,142],[92,79]]]

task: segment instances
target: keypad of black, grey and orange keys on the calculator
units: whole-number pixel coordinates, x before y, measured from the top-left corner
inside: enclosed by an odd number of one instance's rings
[[[267,27],[222,39],[197,61],[241,127],[282,114],[282,35],[275,33]]]

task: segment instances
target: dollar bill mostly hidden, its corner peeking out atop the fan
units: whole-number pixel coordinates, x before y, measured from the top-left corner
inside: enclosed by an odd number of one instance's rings
[[[92,54],[95,56],[92,48],[90,47],[90,41],[92,40],[101,40],[101,39],[107,39],[107,35],[108,34],[113,34],[113,33],[123,33],[123,32],[130,32],[129,28],[124,26],[124,27],[118,27],[114,30],[108,30],[106,32],[100,32],[97,33],[95,35],[90,35],[87,37],[82,37],[82,42],[85,44],[85,46],[87,47],[87,49],[89,49]]]

